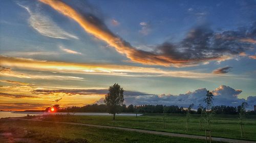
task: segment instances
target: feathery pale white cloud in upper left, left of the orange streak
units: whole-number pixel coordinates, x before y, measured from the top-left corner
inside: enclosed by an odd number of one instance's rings
[[[27,10],[27,12],[30,14],[29,24],[41,35],[59,39],[79,39],[77,36],[60,28],[49,17],[38,12],[33,12],[29,7],[20,4],[18,5]]]

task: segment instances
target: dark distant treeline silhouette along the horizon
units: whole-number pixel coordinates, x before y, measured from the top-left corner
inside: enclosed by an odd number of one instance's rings
[[[233,106],[213,106],[211,110],[218,115],[236,115],[239,112],[238,107]],[[105,104],[92,104],[92,105],[86,105],[82,107],[66,107],[66,108],[59,108],[58,112],[107,112],[108,107]],[[140,105],[140,106],[134,106],[129,105],[126,106],[123,104],[122,106],[119,106],[119,112],[140,112],[140,113],[186,113],[186,108],[183,108],[182,106],[165,106],[165,105]],[[189,113],[191,114],[201,114],[202,109],[198,108],[197,110],[190,110]],[[254,111],[248,111],[249,114],[255,114]]]

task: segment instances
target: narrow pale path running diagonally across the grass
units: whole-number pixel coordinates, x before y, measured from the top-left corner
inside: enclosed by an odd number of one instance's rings
[[[200,136],[200,135],[168,133],[168,132],[141,130],[141,129],[132,129],[132,128],[123,128],[123,127],[102,126],[102,125],[92,125],[92,124],[83,124],[83,123],[42,121],[42,120],[39,120],[39,119],[30,119],[30,120],[29,119],[18,119],[18,118],[10,118],[10,119],[13,119],[13,120],[26,120],[26,121],[31,121],[32,120],[32,121],[39,121],[39,122],[71,124],[71,125],[89,126],[89,127],[96,127],[96,128],[119,129],[119,130],[125,130],[125,131],[135,131],[135,132],[141,132],[141,133],[150,133],[150,134],[167,135],[167,136],[175,136],[175,137],[205,139],[205,136]],[[256,143],[256,141],[239,140],[239,139],[231,139],[231,138],[221,138],[221,137],[211,137],[211,139],[214,140],[214,141],[232,142],[232,143]]]

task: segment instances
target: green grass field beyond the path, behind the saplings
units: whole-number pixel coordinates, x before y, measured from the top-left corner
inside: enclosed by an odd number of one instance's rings
[[[186,131],[185,115],[153,115],[145,114],[140,117],[121,117],[117,116],[112,120],[109,116],[75,116],[75,117],[49,117],[46,120],[61,122],[77,122],[95,125],[107,125],[116,127],[128,127],[145,130],[165,131],[183,134],[205,135],[206,124],[202,123],[200,129],[200,115],[191,115]],[[165,122],[164,122],[165,121]],[[256,140],[256,116],[247,116],[244,119],[245,137],[240,137],[240,126],[237,115],[214,115],[210,125],[212,136]]]

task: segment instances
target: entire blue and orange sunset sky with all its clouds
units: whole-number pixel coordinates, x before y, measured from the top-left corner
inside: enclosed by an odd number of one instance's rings
[[[256,105],[256,1],[2,1],[0,110]]]

